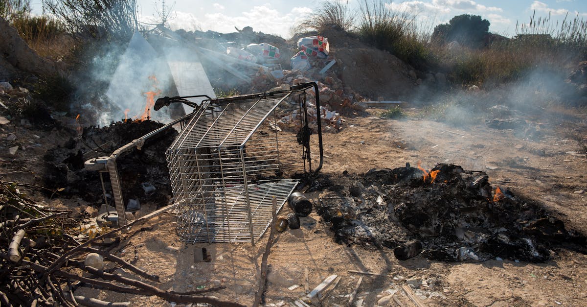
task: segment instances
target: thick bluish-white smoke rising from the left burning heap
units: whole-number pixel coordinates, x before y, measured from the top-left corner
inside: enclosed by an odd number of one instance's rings
[[[166,59],[138,32],[128,45],[106,44],[93,50],[84,71],[85,77],[76,82],[72,111],[82,114],[85,124],[106,126],[143,115],[171,121],[167,108],[154,112],[150,106],[146,111],[149,92],[153,99],[177,94]]]

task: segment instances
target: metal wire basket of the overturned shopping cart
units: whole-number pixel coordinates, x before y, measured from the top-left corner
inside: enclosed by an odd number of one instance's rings
[[[166,153],[183,241],[261,238],[273,199],[279,211],[299,179],[322,167],[319,116],[309,122],[319,115],[317,89],[312,82],[202,102]]]

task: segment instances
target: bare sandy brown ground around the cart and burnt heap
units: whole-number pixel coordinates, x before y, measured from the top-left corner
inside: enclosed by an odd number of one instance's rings
[[[587,135],[585,116],[559,114],[549,122],[539,122],[538,141],[479,124],[456,128],[419,119],[419,110],[408,109],[408,119],[380,118],[382,110],[370,109],[369,116],[346,119],[345,129],[324,135],[325,164],[322,173],[339,185],[370,168],[396,168],[421,160],[424,168],[450,162],[464,169],[488,173],[492,183],[506,186],[518,195],[543,203],[565,222],[568,229],[587,233],[585,173],[587,159],[579,139]],[[4,131],[8,134],[7,131]],[[583,142],[583,144],[585,144]],[[29,154],[32,156],[33,150]],[[28,154],[27,154],[28,155]],[[2,165],[19,165],[21,158],[4,158]],[[14,162],[16,160],[16,162]],[[12,163],[12,164],[10,164]],[[26,169],[26,163],[22,169]],[[34,161],[30,163],[35,163]],[[32,167],[32,166],[29,166]],[[22,170],[21,169],[21,170]],[[8,171],[15,171],[14,166]],[[348,171],[343,175],[344,171]],[[8,175],[6,175],[8,176]],[[11,178],[34,176],[12,173]],[[315,193],[313,196],[318,196]],[[76,206],[77,199],[46,200]],[[148,208],[144,206],[143,208]],[[280,214],[289,213],[284,207]],[[258,289],[259,265],[267,235],[251,243],[181,243],[170,213],[151,219],[143,230],[124,234],[128,244],[118,252],[124,259],[138,257],[136,265],[168,278],[162,289],[193,291],[224,285],[209,295],[244,305],[252,305]],[[194,249],[205,247],[210,262],[194,262]],[[329,226],[312,212],[302,218],[302,227],[278,235],[268,259],[270,273],[265,304],[281,306],[305,294],[305,268],[312,289],[329,275],[339,275],[338,286],[323,305],[345,305],[359,275],[348,270],[372,271],[387,276],[365,276],[357,299],[363,306],[376,306],[395,293],[404,306],[413,306],[401,290],[406,280],[419,279],[428,286],[416,292],[427,306],[581,306],[587,296],[587,255],[561,249],[546,263],[525,263],[491,259],[478,263],[429,261],[421,256],[397,261],[390,249],[346,246],[333,242]],[[124,272],[122,272],[124,273]],[[288,287],[299,285],[298,288]],[[295,287],[295,286],[294,286]],[[107,301],[130,301],[134,306],[169,306],[157,297],[125,295],[80,288],[76,295]],[[385,304],[394,306],[392,300]],[[171,304],[173,305],[173,304]]]

